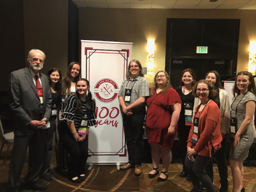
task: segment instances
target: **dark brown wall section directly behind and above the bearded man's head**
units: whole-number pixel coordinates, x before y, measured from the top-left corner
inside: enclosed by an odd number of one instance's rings
[[[57,67],[64,75],[68,64],[68,0],[23,2],[25,57],[31,49],[42,50],[46,55],[42,72]]]

